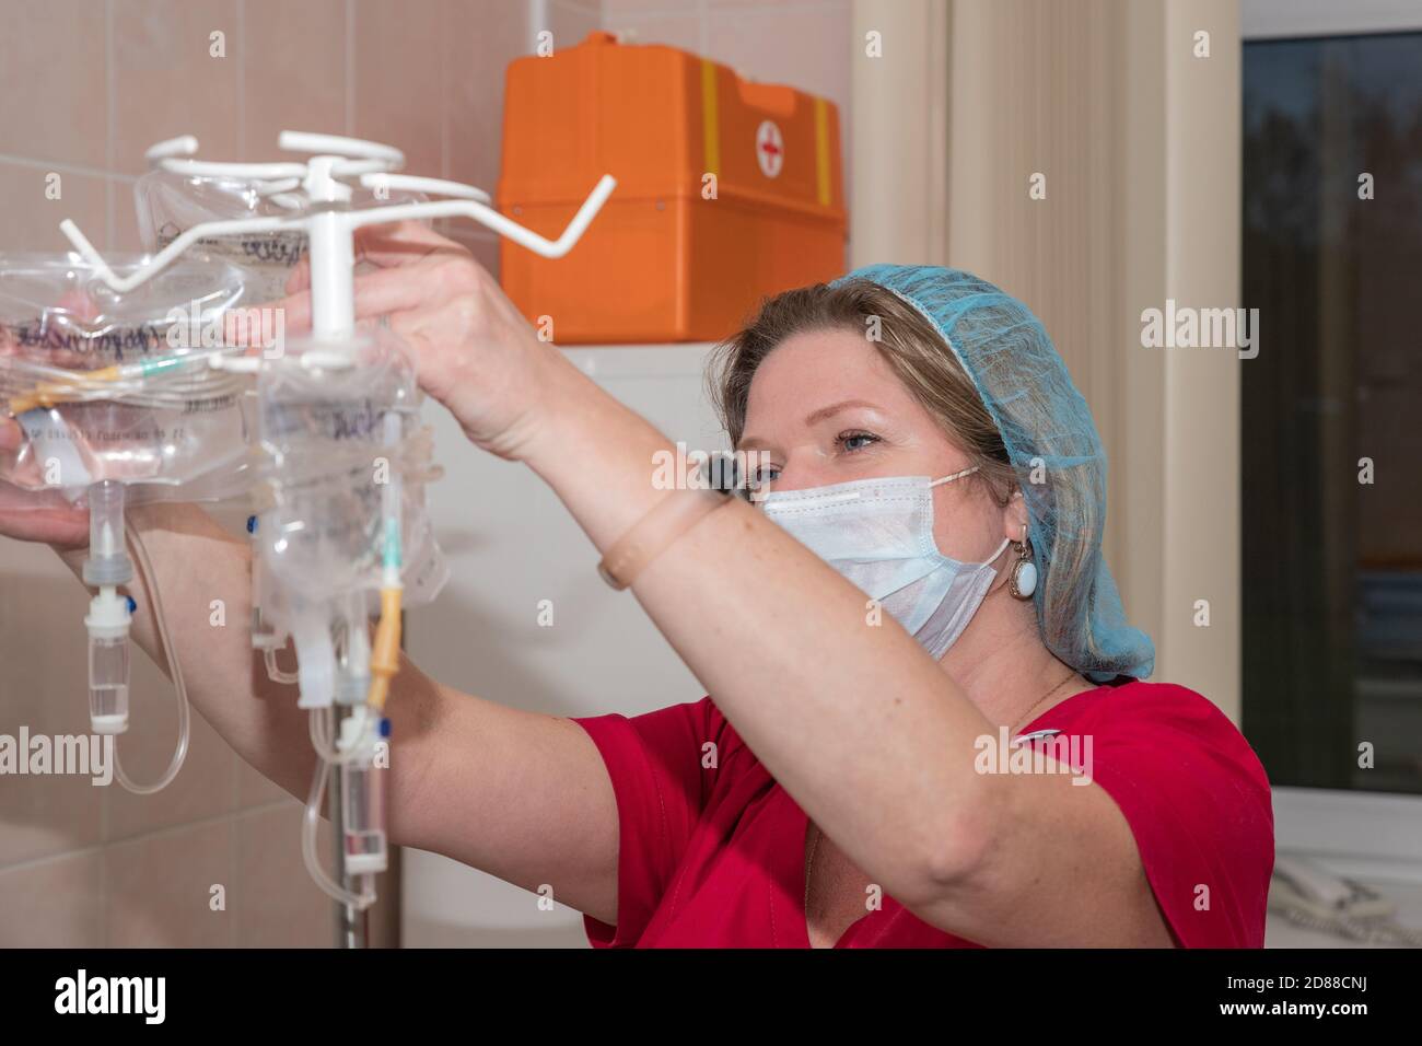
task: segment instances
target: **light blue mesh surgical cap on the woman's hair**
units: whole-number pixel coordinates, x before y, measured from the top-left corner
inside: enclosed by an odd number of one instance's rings
[[[914,306],[943,336],[993,417],[1027,501],[1042,640],[1094,682],[1142,679],[1155,646],[1126,623],[1101,537],[1106,453],[1066,364],[1031,310],[987,280],[927,265],[870,265],[870,280]]]

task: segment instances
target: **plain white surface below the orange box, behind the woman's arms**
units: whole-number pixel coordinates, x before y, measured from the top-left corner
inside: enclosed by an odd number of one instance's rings
[[[708,346],[565,350],[604,389],[693,450],[725,437],[704,396]],[[411,611],[407,650],[466,693],[562,716],[637,714],[705,690],[627,592],[597,576],[597,551],[523,465],[475,450],[447,411],[428,413],[445,477],[429,488],[451,581]],[[650,463],[648,463],[650,465]],[[552,628],[538,625],[553,602]],[[437,854],[404,851],[407,946],[582,945],[582,916]]]

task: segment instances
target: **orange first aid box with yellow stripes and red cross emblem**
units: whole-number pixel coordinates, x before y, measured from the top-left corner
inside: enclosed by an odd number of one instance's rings
[[[567,255],[501,242],[503,290],[560,344],[720,340],[762,297],[843,275],[823,98],[610,33],[510,63],[499,211],[553,239],[603,174],[617,188]]]

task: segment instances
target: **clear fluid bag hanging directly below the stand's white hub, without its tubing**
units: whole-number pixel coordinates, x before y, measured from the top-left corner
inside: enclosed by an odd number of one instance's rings
[[[262,370],[257,545],[270,576],[307,603],[360,592],[374,599],[395,481],[404,603],[418,606],[438,595],[448,566],[425,505],[425,484],[439,470],[414,364],[384,329],[353,334],[348,344],[351,364],[327,367],[303,357],[328,356],[328,344],[289,339]],[[273,623],[283,626],[282,616],[277,599]]]

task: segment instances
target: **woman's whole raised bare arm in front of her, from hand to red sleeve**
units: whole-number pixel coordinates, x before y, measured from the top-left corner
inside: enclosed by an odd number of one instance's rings
[[[475,444],[542,475],[600,551],[661,500],[687,497],[656,480],[673,444],[540,342],[468,252],[417,225],[371,229],[358,250],[380,268],[356,280],[357,315],[388,316],[425,391]],[[300,326],[310,302],[297,293],[284,307]],[[978,739],[995,724],[896,622],[867,628],[863,593],[751,505],[712,511],[634,592],[759,761],[923,918],[981,934],[974,908],[1032,889],[1032,918],[993,944],[1052,939],[1084,921],[1101,944],[1160,939],[1109,797],[977,773]]]

